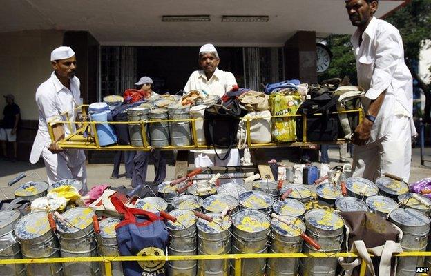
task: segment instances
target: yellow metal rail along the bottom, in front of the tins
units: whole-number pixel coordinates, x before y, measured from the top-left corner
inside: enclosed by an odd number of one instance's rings
[[[337,253],[331,257],[358,257],[354,253]],[[372,257],[372,255],[370,255]],[[396,257],[431,257],[431,252],[404,252]],[[193,255],[193,256],[117,256],[117,257],[68,257],[68,258],[45,258],[45,259],[0,259],[0,265],[4,264],[52,264],[65,262],[103,262],[105,275],[112,276],[112,262],[124,261],[186,261],[186,260],[211,260],[211,259],[233,259],[235,265],[235,276],[241,275],[242,259],[258,258],[327,258],[325,253],[251,253],[251,254],[225,254],[225,255]],[[367,264],[361,261],[360,276],[365,276]],[[423,273],[422,275],[427,275]]]

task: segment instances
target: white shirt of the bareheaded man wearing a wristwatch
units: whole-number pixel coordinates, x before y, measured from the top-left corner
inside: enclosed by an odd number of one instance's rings
[[[404,62],[403,41],[399,31],[386,21],[373,17],[362,34],[359,46],[359,30],[352,36],[358,85],[365,89],[363,106],[367,112],[370,101],[386,91],[385,99],[372,126],[370,142],[381,139],[389,132],[394,115],[410,118],[413,123],[413,81]]]

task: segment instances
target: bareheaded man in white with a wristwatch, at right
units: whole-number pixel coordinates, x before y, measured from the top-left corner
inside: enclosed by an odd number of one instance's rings
[[[374,180],[384,173],[410,177],[412,75],[404,62],[399,31],[376,19],[376,0],[347,0],[347,13],[358,29],[352,36],[358,85],[366,93],[365,118],[354,134],[353,175]]]

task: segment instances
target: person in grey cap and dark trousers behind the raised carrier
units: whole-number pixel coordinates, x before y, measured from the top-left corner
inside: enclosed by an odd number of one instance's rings
[[[153,91],[153,84],[153,79],[144,76],[135,83],[135,86],[140,86],[140,91],[145,95],[157,96],[157,93]],[[135,158],[133,158],[135,169],[133,170],[132,186],[146,184],[146,171],[150,159],[153,160],[155,169],[155,179],[150,186],[153,192],[157,193],[157,185],[166,178],[166,157],[161,150],[137,151]]]

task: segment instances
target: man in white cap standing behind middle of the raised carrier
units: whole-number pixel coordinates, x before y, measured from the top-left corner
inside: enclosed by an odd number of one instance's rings
[[[231,72],[218,69],[220,58],[212,44],[205,44],[199,50],[199,65],[202,70],[194,71],[189,77],[184,91],[198,90],[207,95],[222,97],[224,93],[232,90],[236,85],[235,77]],[[193,150],[195,153],[195,167],[211,166],[239,166],[240,154],[238,149],[232,149],[226,160],[220,160],[214,150]],[[218,155],[224,156],[227,150],[217,150]]]

